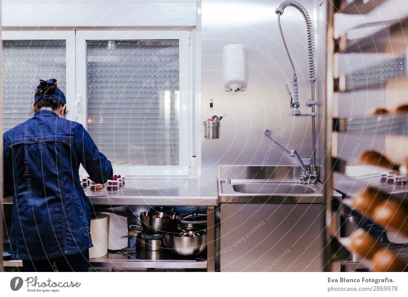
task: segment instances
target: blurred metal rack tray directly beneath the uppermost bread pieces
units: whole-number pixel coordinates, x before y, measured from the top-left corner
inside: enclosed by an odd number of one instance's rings
[[[333,132],[347,132],[373,135],[401,135],[408,129],[408,115],[405,113],[347,119],[333,118]]]

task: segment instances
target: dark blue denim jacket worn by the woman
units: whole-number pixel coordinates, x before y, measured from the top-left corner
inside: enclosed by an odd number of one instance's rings
[[[13,195],[11,249],[16,259],[74,255],[92,246],[90,204],[79,180],[112,179],[111,162],[84,127],[41,109],[4,134],[4,196]]]

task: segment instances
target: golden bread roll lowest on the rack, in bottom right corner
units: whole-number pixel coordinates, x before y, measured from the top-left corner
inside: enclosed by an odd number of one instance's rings
[[[372,258],[372,270],[377,272],[405,271],[406,264],[387,248],[380,248]]]

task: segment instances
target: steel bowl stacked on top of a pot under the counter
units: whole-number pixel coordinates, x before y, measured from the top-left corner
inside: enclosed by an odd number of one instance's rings
[[[151,234],[171,231],[176,225],[179,217],[175,214],[163,214],[157,212],[143,211],[140,213],[140,222],[143,229]]]

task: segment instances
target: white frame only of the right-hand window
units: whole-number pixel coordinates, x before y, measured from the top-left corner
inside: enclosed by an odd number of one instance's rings
[[[188,176],[189,175],[189,31],[134,31],[134,30],[78,30],[76,36],[76,88],[77,94],[72,109],[75,120],[87,128],[87,41],[94,40],[140,40],[178,39],[180,73],[180,115],[179,115],[179,166],[135,166],[116,165],[114,172],[126,176]],[[103,152],[102,152],[103,153]]]

